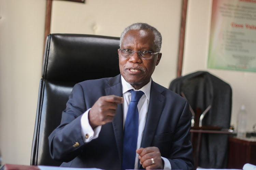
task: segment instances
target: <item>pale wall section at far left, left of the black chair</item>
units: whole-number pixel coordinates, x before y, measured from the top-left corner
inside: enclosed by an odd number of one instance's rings
[[[0,152],[30,164],[44,44],[45,0],[0,0]]]

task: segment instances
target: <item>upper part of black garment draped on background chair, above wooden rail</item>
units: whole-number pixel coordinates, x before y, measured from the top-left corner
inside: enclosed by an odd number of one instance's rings
[[[211,105],[203,118],[203,126],[229,129],[232,89],[228,83],[207,71],[197,71],[174,79],[169,89],[181,96],[183,92],[195,113],[197,108],[203,112]]]

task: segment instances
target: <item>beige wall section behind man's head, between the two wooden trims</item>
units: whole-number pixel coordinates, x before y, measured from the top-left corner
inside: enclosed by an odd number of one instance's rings
[[[163,37],[162,58],[152,78],[168,87],[176,77],[181,9],[182,0],[86,0],[85,4],[53,1],[51,33],[119,37],[132,23],[151,24]]]

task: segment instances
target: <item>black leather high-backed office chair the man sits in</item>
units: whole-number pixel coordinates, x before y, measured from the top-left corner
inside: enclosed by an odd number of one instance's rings
[[[49,153],[48,136],[60,124],[73,86],[81,81],[119,74],[119,38],[49,34],[46,39],[31,165],[59,166]]]

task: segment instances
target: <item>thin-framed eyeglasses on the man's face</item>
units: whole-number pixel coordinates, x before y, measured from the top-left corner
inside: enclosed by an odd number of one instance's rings
[[[120,55],[122,57],[125,57],[125,58],[130,58],[131,56],[134,55],[135,52],[137,52],[139,54],[140,58],[149,60],[153,57],[153,55],[158,54],[160,51],[153,53],[152,51],[145,51],[145,50],[143,50],[143,51],[133,51],[133,50],[130,50],[130,49],[120,49],[119,48],[118,52],[120,53]]]

